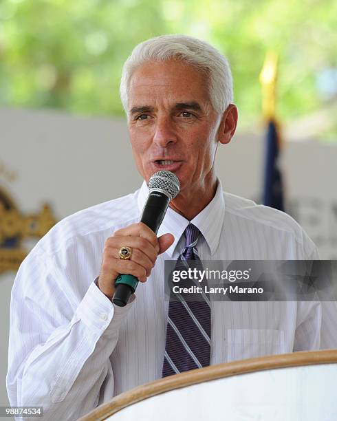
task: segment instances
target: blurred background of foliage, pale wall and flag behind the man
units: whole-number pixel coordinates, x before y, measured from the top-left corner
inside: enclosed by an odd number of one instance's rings
[[[337,258],[336,28],[334,0],[0,0],[0,405],[22,259],[58,220],[142,182],[118,88],[145,39],[189,34],[228,58],[239,126],[217,157],[224,188],[282,208]]]

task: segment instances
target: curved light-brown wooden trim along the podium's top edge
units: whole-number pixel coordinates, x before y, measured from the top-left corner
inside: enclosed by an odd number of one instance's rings
[[[337,363],[337,349],[292,352],[290,354],[248,358],[247,360],[232,361],[232,363],[210,365],[202,369],[195,369],[186,371],[185,373],[175,374],[174,376],[160,378],[159,380],[120,393],[120,395],[113,398],[110,402],[100,405],[100,407],[89,412],[78,421],[103,421],[121,409],[146,398],[151,398],[151,396],[218,378],[268,369],[329,363]]]

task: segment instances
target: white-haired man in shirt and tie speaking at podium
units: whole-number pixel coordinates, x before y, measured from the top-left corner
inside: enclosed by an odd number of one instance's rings
[[[120,94],[144,183],[54,226],[12,289],[10,404],[42,406],[46,420],[75,420],[162,376],[320,346],[318,302],[206,296],[195,310],[164,299],[165,259],[317,258],[294,219],[217,179],[217,148],[237,127],[226,58],[191,36],[150,39],[124,64]],[[180,192],[155,235],[139,221],[157,171],[174,173]],[[111,301],[120,274],[140,281],[124,307]]]

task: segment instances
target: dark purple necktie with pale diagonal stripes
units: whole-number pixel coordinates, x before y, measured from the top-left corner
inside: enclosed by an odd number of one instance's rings
[[[185,249],[178,257],[175,269],[187,270],[193,261],[193,268],[202,270],[202,262],[196,247],[199,230],[193,224],[189,224],[184,234]],[[196,281],[196,283],[198,282]],[[191,281],[186,286],[190,285]],[[180,281],[180,286],[183,286],[182,281]],[[209,364],[209,296],[197,294],[197,299],[195,299],[195,295],[188,298],[186,295],[173,294],[171,290],[162,377],[206,367]]]

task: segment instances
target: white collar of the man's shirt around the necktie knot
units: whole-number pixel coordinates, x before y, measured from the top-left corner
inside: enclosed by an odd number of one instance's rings
[[[149,196],[149,188],[144,181],[142,187],[138,193],[138,208],[140,213],[144,208],[147,197]],[[219,245],[219,239],[221,235],[221,228],[224,224],[225,215],[225,200],[224,193],[222,190],[221,181],[217,180],[217,191],[215,196],[210,203],[204,208],[198,215],[196,215],[191,221],[188,221],[185,217],[175,212],[175,210],[168,208],[162,225],[160,226],[157,236],[165,233],[171,233],[175,237],[175,241],[172,246],[166,250],[166,253],[172,258],[173,252],[177,246],[180,237],[186,230],[188,224],[193,224],[204,236],[208,247],[210,248],[210,255],[215,253],[217,246]]]

